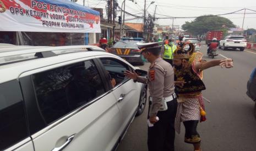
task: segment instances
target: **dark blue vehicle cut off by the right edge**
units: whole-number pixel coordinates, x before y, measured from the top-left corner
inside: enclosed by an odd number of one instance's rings
[[[247,92],[246,94],[252,98],[253,101],[256,101],[256,68],[250,74],[250,79],[247,82]],[[256,117],[256,103],[254,105],[254,115]]]

